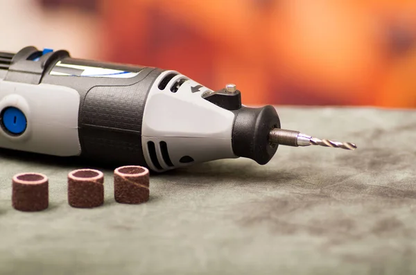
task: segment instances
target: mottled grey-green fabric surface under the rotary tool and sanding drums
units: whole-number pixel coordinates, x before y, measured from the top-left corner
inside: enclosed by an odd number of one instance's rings
[[[72,209],[73,159],[0,151],[0,274],[416,274],[416,112],[278,107],[282,127],[358,150],[285,148],[150,178],[150,201]],[[42,172],[50,207],[10,206]]]

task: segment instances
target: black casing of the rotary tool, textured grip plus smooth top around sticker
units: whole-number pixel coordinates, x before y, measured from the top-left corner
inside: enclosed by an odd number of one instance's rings
[[[150,87],[164,70],[73,58],[60,61],[137,73],[132,78],[55,76],[51,71],[57,68],[51,66],[42,83],[71,87],[80,94],[78,136],[82,157],[148,167],[141,148],[141,124]]]

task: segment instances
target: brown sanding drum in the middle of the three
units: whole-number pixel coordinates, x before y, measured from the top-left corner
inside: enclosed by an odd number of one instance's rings
[[[68,174],[68,203],[76,208],[93,208],[104,203],[104,174],[93,169]]]

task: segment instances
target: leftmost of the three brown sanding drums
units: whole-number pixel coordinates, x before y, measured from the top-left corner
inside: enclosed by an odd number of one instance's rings
[[[30,172],[12,178],[12,206],[19,211],[42,211],[49,206],[49,181]]]

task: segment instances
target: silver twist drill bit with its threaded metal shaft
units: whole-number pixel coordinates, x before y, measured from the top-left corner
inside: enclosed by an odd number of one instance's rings
[[[356,150],[357,146],[354,143],[330,141],[329,139],[317,139],[307,134],[302,134],[298,131],[284,130],[275,128],[270,130],[269,143],[288,145],[288,146],[309,146],[320,145],[324,147],[341,148],[345,150]]]

